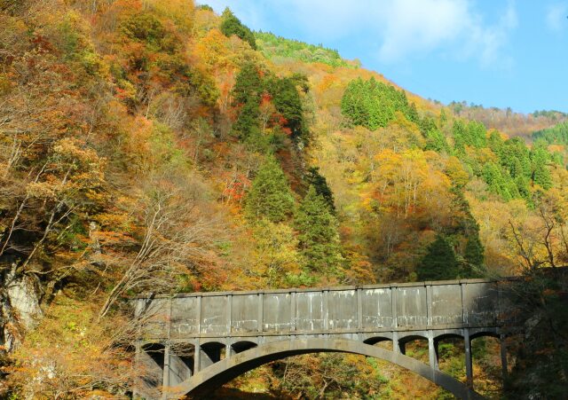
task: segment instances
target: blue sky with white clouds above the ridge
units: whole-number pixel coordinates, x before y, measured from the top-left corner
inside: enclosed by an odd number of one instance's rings
[[[568,0],[209,0],[448,103],[568,112]]]

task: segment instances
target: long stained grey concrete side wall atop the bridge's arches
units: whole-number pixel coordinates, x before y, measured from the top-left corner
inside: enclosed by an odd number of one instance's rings
[[[502,323],[508,281],[462,279],[397,285],[147,296],[142,337],[215,338],[490,327]]]

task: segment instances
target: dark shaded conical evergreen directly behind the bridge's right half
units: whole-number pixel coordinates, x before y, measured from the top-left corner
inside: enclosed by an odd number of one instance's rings
[[[416,268],[416,274],[420,280],[458,278],[459,266],[454,249],[442,235],[430,244],[428,253]]]

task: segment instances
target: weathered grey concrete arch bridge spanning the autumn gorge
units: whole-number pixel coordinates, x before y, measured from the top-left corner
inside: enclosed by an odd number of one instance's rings
[[[143,324],[136,343],[135,396],[193,396],[259,365],[330,351],[377,357],[436,383],[459,398],[473,390],[471,340],[501,340],[514,313],[510,280],[462,279],[408,284],[147,296],[135,300]],[[509,324],[508,324],[509,325]],[[438,342],[464,341],[467,382],[438,369]],[[406,343],[428,341],[429,362],[405,355]],[[391,341],[392,349],[374,346]]]

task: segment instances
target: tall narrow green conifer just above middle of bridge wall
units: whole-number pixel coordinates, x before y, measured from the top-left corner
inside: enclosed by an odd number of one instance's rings
[[[300,252],[310,271],[335,275],[341,263],[337,220],[327,201],[311,185],[295,219]]]

